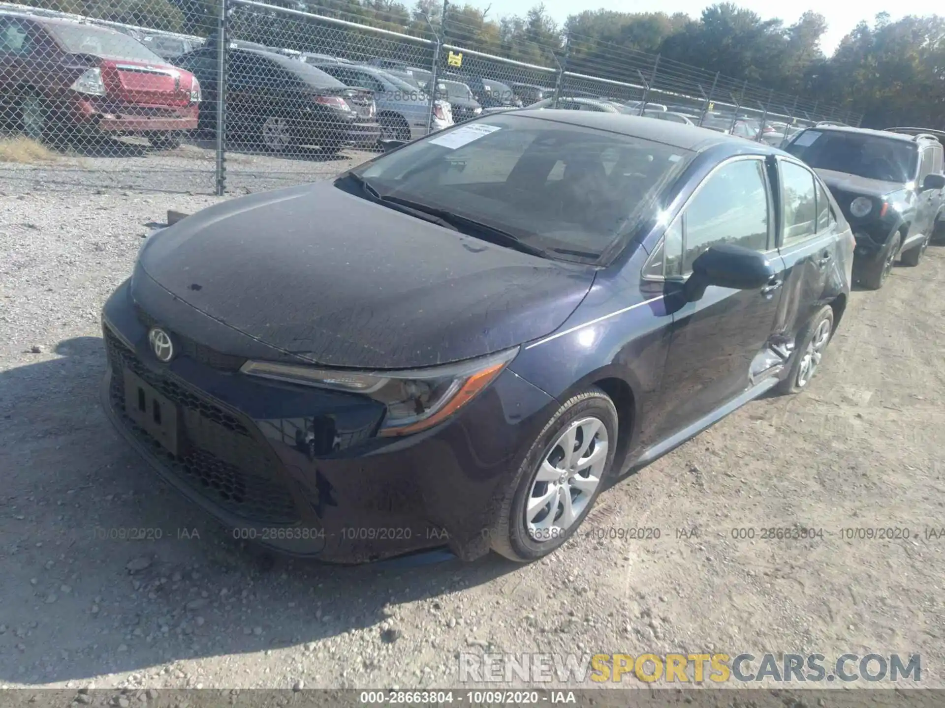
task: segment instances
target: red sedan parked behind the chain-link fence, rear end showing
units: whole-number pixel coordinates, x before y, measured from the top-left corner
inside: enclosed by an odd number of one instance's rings
[[[200,85],[107,27],[0,15],[0,110],[35,140],[140,135],[176,147],[197,127]]]

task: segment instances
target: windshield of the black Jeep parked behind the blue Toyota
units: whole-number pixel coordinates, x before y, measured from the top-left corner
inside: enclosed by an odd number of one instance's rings
[[[915,143],[840,130],[804,130],[784,149],[817,169],[886,182],[910,181],[919,157]]]

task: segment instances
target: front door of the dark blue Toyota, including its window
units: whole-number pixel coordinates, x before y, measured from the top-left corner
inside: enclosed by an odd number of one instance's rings
[[[782,296],[773,204],[764,158],[737,157],[703,180],[666,230],[667,281],[685,281],[693,261],[723,243],[765,253],[777,275],[756,290],[710,286],[701,299],[674,313],[663,375],[667,394],[652,439],[692,425],[763,379],[773,362],[780,363],[769,349]]]

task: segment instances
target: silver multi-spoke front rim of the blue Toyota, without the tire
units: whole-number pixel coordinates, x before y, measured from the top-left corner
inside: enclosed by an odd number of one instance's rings
[[[607,449],[607,428],[598,418],[580,418],[561,432],[525,503],[525,529],[533,541],[558,538],[583,514],[600,484]]]

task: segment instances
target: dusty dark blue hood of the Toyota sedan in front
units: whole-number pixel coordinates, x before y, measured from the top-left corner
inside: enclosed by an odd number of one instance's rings
[[[430,224],[331,181],[200,211],[152,236],[139,267],[285,353],[379,369],[459,361],[548,334],[595,272]]]

